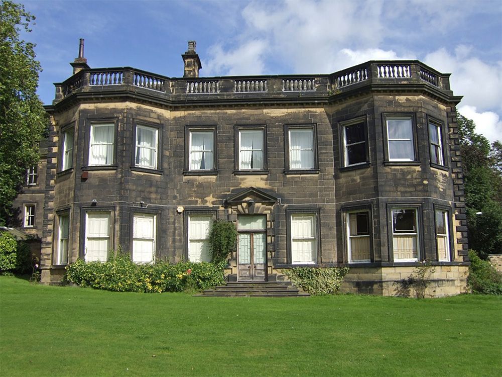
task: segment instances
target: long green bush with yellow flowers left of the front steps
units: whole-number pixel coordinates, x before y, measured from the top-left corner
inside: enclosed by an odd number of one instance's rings
[[[117,253],[107,262],[78,259],[67,266],[66,279],[79,287],[115,292],[199,292],[223,284],[226,263],[180,262],[136,264],[129,254]]]

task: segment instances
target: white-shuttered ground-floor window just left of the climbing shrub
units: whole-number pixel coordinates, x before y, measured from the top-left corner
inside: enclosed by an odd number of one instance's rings
[[[210,215],[188,216],[188,260],[191,262],[210,262],[209,232],[213,217]]]

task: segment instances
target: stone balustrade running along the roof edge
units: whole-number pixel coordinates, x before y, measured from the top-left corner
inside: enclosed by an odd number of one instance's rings
[[[73,93],[146,90],[145,95],[179,100],[177,96],[218,96],[219,99],[317,98],[337,96],[365,85],[430,85],[450,92],[449,74],[442,74],[417,61],[369,61],[331,74],[306,76],[243,76],[170,78],[135,68],[83,69],[56,84],[57,103]],[[238,97],[233,97],[239,93]],[[201,101],[202,101],[201,97]]]

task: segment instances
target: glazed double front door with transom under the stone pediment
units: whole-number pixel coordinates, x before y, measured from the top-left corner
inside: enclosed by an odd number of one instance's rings
[[[267,217],[240,215],[237,231],[238,280],[267,280]]]

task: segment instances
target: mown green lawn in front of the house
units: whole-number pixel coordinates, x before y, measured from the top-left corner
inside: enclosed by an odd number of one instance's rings
[[[502,298],[202,298],[0,276],[3,376],[502,375]]]

